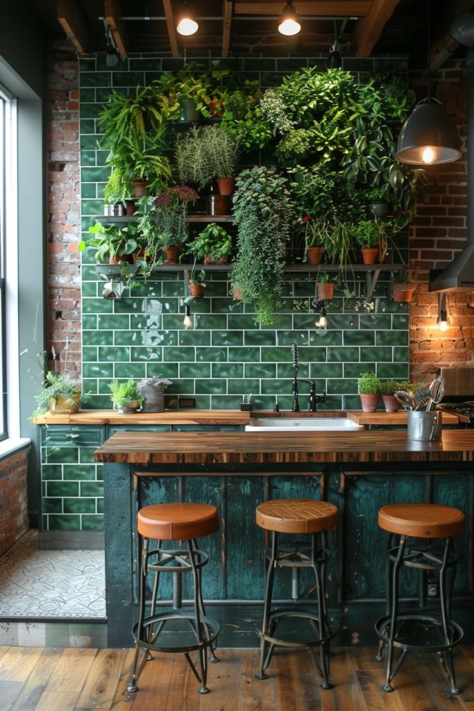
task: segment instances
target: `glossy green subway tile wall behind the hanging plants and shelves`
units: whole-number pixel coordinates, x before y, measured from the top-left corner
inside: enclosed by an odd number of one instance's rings
[[[210,67],[212,53],[193,57]],[[190,58],[188,58],[190,59]],[[285,73],[320,65],[324,58],[244,56],[224,60],[243,70],[262,87],[275,85]],[[406,75],[405,58],[345,58],[358,80],[387,69]],[[151,82],[162,70],[178,70],[183,60],[136,55],[109,70],[103,56],[80,60],[82,229],[102,213],[102,188],[109,169],[107,152],[98,149],[97,116],[112,89],[128,90]],[[328,328],[315,327],[318,316],[308,307],[316,296],[316,275],[288,274],[285,307],[275,328],[254,324],[247,306],[230,297],[228,272],[208,272],[205,297],[191,305],[193,329],[183,327],[183,272],[157,272],[122,299],[101,297],[103,280],[85,253],[82,269],[82,343],[84,390],[88,407],[110,407],[113,378],[165,375],[167,407],[178,395],[195,396],[198,407],[235,408],[252,392],[256,407],[292,404],[291,344],[299,346],[301,377],[316,378],[330,393],[324,407],[359,407],[357,377],[375,370],[381,377],[409,373],[408,307],[389,298],[389,272],[382,272],[373,310],[365,312],[365,276],[355,275],[355,299],[337,292],[328,306]],[[306,301],[306,302],[305,302]],[[347,370],[350,366],[349,370]],[[304,397],[304,396],[303,396]]]

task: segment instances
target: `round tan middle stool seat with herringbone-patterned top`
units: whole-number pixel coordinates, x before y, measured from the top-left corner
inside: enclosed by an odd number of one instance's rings
[[[259,503],[255,520],[260,528],[279,533],[319,533],[335,528],[338,509],[311,498],[278,498]]]

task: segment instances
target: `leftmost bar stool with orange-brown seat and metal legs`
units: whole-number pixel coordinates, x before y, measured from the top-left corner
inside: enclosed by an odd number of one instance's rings
[[[138,690],[137,681],[150,651],[183,652],[195,678],[200,682],[198,692],[208,693],[208,649],[211,662],[219,661],[214,656],[213,645],[219,634],[219,625],[205,613],[201,591],[201,568],[208,562],[208,555],[198,549],[197,540],[219,529],[219,514],[215,506],[206,503],[161,503],[145,506],[136,517],[139,535],[141,562],[139,565],[139,620],[133,627],[136,643],[134,663],[127,691]],[[149,540],[156,540],[157,547],[149,550]],[[185,542],[178,549],[162,548],[163,541]],[[154,572],[153,593],[149,614],[146,614],[146,582]],[[173,575],[172,610],[156,614],[158,586],[161,573]],[[193,609],[182,610],[183,574],[193,578]],[[174,638],[164,639],[161,633],[171,621]],[[180,622],[185,622],[184,626]],[[188,624],[186,624],[188,623]],[[183,629],[184,627],[184,629]],[[190,652],[198,651],[199,670]]]

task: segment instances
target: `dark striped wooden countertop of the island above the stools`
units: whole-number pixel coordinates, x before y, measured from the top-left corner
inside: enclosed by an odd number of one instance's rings
[[[360,432],[117,432],[95,461],[122,464],[249,462],[473,461],[474,429],[442,439],[407,439],[406,430]]]

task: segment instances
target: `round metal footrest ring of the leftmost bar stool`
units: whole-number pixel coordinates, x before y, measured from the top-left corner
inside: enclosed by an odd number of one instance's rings
[[[175,634],[193,634],[195,636],[195,641],[190,641],[188,644],[161,644],[158,643],[160,639],[160,635],[163,633],[163,629],[165,628],[165,625],[168,621],[188,621],[190,624],[190,631],[188,633],[185,633],[183,631],[175,631]],[[197,634],[195,629],[193,629],[193,626],[196,624],[196,616],[193,614],[193,612],[189,612],[188,614],[183,612],[163,612],[158,615],[153,615],[153,616],[148,616],[144,618],[142,629],[144,632],[149,631],[150,636],[148,638],[141,638],[139,636],[139,624],[136,623],[134,624],[132,628],[132,633],[134,635],[134,639],[136,643],[145,649],[151,649],[152,651],[156,652],[171,652],[171,653],[178,653],[178,652],[192,652],[198,649],[205,649],[210,646],[212,646],[212,643],[215,642],[215,639],[217,638],[217,635],[219,634],[220,631],[220,626],[217,620],[215,620],[213,617],[209,617],[207,615],[200,615],[200,625],[205,628],[205,639],[199,640],[197,638]],[[158,636],[156,636],[153,639],[153,625],[157,625],[160,627]],[[150,639],[153,639],[153,641],[150,641]]]

